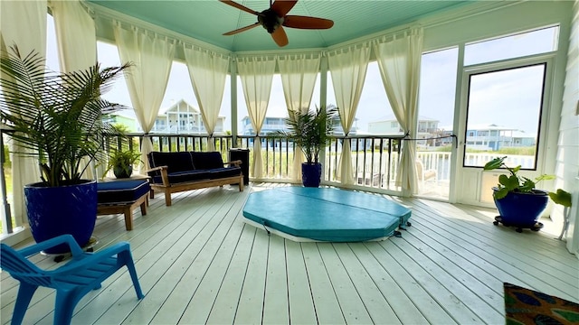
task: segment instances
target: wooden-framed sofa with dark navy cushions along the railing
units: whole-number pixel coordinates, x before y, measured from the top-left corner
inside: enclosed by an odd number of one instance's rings
[[[152,190],[165,193],[166,206],[171,205],[171,194],[213,186],[238,184],[243,190],[242,161],[223,163],[218,152],[148,153]]]

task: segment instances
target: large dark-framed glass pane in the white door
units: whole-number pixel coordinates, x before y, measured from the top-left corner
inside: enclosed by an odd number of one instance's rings
[[[536,169],[545,75],[546,63],[470,74],[467,129],[484,139],[467,144],[464,166],[481,167],[475,153],[482,151],[517,154],[523,169]]]

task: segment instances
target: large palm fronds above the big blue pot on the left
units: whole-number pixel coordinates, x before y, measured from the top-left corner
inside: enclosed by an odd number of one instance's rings
[[[2,52],[0,117],[20,145],[15,153],[38,159],[46,186],[79,183],[90,161],[103,154],[110,126],[101,117],[122,107],[100,96],[129,66],[101,70],[97,63],[60,73],[46,70],[37,51],[23,57],[14,45]]]

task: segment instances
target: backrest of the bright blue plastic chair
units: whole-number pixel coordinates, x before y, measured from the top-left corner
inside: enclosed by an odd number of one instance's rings
[[[52,278],[42,269],[33,265],[26,256],[21,255],[11,246],[0,244],[0,266],[20,281],[42,286],[51,286]]]

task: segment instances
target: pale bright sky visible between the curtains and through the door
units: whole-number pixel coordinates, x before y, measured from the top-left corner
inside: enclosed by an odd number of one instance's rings
[[[58,70],[54,27],[50,15],[48,23],[47,65],[52,70]],[[465,64],[514,58],[529,53],[551,51],[556,47],[554,29],[533,32],[531,36],[514,35],[489,42],[469,44],[465,48]],[[103,67],[120,65],[116,46],[98,42],[98,54]],[[457,60],[458,48],[456,47],[422,55],[419,116],[437,119],[439,128],[446,130],[451,129],[454,116]],[[504,125],[518,128],[528,134],[536,134],[540,107],[538,103],[541,99],[540,96],[537,98],[537,94],[541,93],[537,90],[542,87],[541,82],[537,83],[537,80],[542,81],[537,71],[542,73],[542,66],[524,71],[502,71],[472,76],[469,125]],[[327,104],[336,104],[331,85],[331,76],[328,74]],[[220,116],[225,116],[225,128],[230,129],[227,127],[231,123],[229,78],[224,89]],[[247,116],[241,82],[238,82],[238,89],[238,118],[241,120],[243,116]],[[124,79],[119,79],[115,87],[104,97],[132,107]],[[160,112],[181,98],[198,107],[185,64],[174,61]],[[312,107],[316,105],[320,105],[319,78],[312,97]],[[279,75],[273,78],[267,116],[287,116]],[[394,115],[386,98],[377,64],[370,62],[364,90],[356,111],[356,126],[360,133],[365,133],[368,123],[379,121],[386,116]],[[238,125],[238,131],[241,133],[241,122]]]

